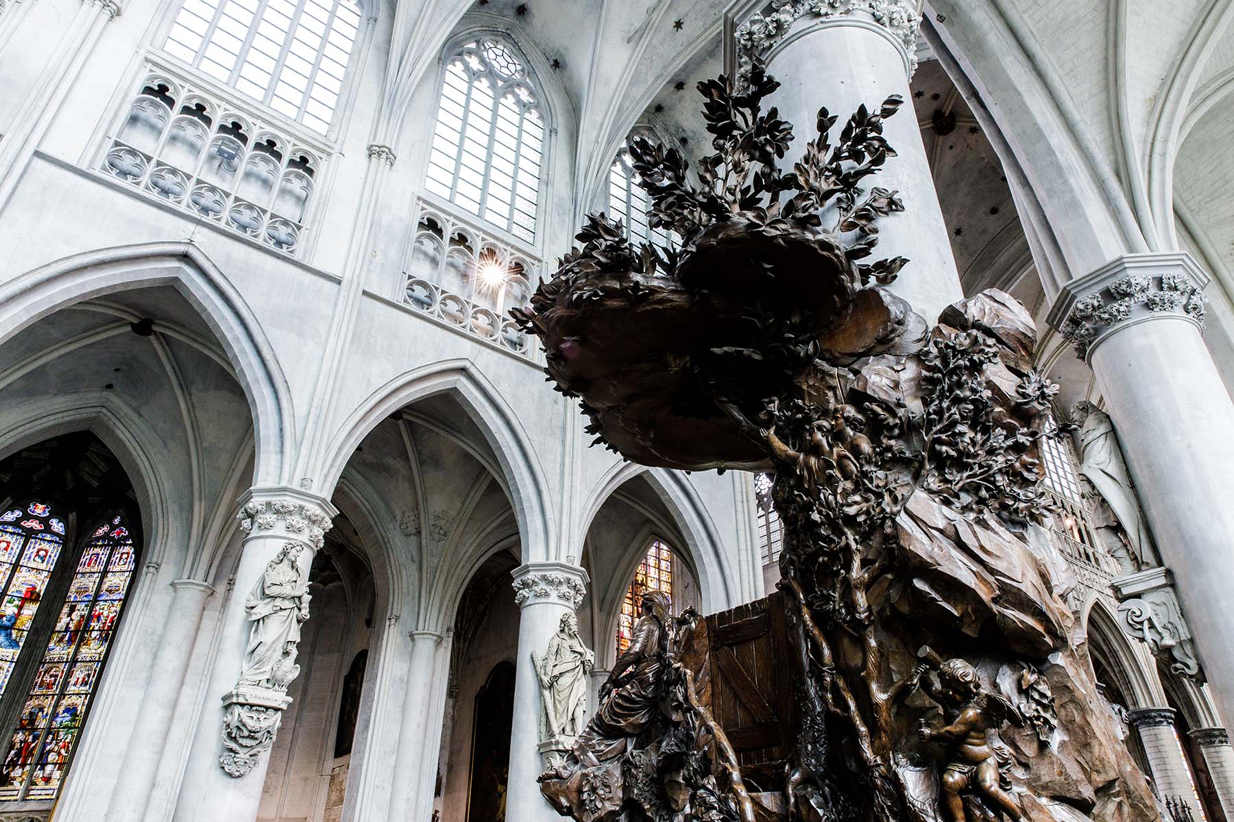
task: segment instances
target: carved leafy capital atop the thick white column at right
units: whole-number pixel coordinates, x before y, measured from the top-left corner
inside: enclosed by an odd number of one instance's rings
[[[1204,327],[1202,286],[1187,274],[1129,274],[1075,301],[1060,332],[1083,359],[1101,335],[1124,323],[1178,314]]]

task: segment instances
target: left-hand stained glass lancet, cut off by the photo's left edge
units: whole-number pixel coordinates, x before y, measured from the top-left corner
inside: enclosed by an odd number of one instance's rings
[[[0,514],[0,695],[64,547],[64,523],[51,505],[30,502]]]

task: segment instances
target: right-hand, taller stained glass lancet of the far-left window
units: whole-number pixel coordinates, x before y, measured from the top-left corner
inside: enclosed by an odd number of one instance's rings
[[[0,765],[0,801],[53,800],[59,792],[135,567],[130,529],[112,516],[81,551]]]

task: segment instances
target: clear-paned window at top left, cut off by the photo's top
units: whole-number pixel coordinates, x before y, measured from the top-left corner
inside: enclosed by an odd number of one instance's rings
[[[359,27],[354,0],[184,0],[163,51],[325,134]]]

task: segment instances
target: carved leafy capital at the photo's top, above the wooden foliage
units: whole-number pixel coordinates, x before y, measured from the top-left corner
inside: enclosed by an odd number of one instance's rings
[[[858,26],[885,36],[917,70],[916,4],[903,0],[734,0],[724,12],[726,71],[744,76],[755,58],[769,58],[777,46],[832,26]]]

